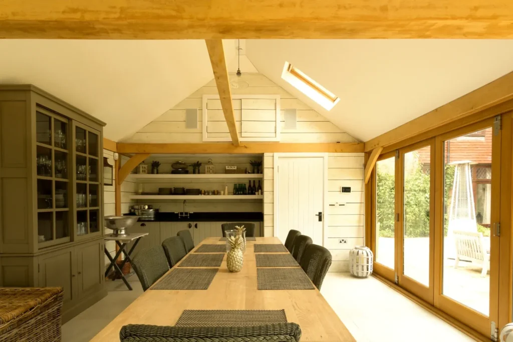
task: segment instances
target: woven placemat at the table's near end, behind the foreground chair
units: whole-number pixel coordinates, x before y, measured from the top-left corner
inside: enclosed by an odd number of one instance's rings
[[[287,323],[285,310],[184,310],[176,327],[251,327]]]

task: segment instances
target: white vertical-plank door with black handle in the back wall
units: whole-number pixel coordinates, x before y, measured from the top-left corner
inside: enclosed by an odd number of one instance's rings
[[[290,229],[323,245],[323,157],[278,158],[278,232],[285,242]],[[324,217],[322,217],[324,220]]]

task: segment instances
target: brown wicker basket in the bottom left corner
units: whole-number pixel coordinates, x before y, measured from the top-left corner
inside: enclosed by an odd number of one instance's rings
[[[63,289],[0,288],[0,340],[61,341]]]

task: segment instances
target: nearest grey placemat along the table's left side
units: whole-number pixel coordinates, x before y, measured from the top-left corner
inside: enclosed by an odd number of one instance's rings
[[[206,290],[216,273],[216,268],[176,269],[166,274],[150,290]]]

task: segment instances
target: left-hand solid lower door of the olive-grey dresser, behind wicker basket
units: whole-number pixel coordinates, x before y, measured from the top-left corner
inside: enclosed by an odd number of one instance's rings
[[[66,248],[39,257],[39,287],[60,286],[64,289],[63,308],[76,299],[75,249]]]

